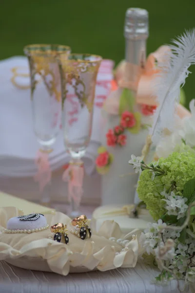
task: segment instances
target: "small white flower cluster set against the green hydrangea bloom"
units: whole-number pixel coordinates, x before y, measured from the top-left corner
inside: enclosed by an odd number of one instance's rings
[[[188,209],[188,205],[185,204],[188,200],[186,197],[175,195],[174,191],[171,191],[170,195],[163,191],[161,195],[167,198],[163,200],[167,203],[165,208],[168,210],[168,215],[176,215],[177,220],[185,216]]]

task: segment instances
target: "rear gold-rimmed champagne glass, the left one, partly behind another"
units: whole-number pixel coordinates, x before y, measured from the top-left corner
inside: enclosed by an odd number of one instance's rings
[[[61,124],[61,85],[56,57],[63,53],[65,58],[70,52],[69,46],[58,44],[31,44],[24,47],[30,67],[33,128],[39,150],[45,156],[53,150]],[[44,187],[48,186],[50,180],[46,171],[44,173],[44,167],[41,172],[40,181]],[[47,204],[50,201],[49,189],[43,189],[41,201]]]

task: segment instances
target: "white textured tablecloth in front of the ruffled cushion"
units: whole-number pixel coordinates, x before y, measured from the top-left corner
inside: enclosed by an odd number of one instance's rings
[[[54,207],[62,212],[67,208],[65,205]],[[93,209],[90,206],[80,207],[81,213],[87,217],[91,216]],[[156,267],[137,264],[130,269],[62,276],[52,272],[24,270],[0,261],[0,293],[179,293],[176,280],[167,286],[152,284],[151,280],[158,274]],[[190,293],[187,290],[184,292]]]

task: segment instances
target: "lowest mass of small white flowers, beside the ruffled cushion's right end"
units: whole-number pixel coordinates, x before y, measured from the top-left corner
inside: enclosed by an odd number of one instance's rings
[[[195,238],[188,235],[182,244],[178,240],[181,230],[165,229],[165,226],[161,219],[157,223],[148,223],[148,228],[140,235],[140,245],[156,259],[166,261],[177,278],[195,282],[195,256],[190,260],[195,253]]]

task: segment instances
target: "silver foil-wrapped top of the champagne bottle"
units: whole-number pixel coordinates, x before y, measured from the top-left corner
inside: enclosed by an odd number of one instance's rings
[[[148,11],[141,8],[127,9],[124,37],[139,40],[148,38],[148,35]]]

